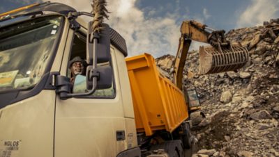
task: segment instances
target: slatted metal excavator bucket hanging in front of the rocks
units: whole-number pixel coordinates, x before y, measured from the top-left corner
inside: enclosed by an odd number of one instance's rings
[[[218,49],[219,48],[219,49]],[[237,44],[224,47],[199,47],[199,74],[235,71],[246,65],[248,50]]]

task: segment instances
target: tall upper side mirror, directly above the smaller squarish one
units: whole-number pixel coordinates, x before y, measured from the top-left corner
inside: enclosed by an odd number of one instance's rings
[[[93,51],[96,53],[97,63],[108,62],[110,60],[110,26],[103,24],[104,29],[100,33],[93,33],[92,25],[93,22],[89,22],[86,40],[86,62],[93,65]],[[93,50],[94,38],[98,40],[95,50]]]

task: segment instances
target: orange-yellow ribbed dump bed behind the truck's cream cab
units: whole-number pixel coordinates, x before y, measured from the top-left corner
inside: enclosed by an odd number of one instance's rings
[[[183,92],[158,72],[154,58],[144,53],[126,59],[137,132],[174,131],[188,118]]]

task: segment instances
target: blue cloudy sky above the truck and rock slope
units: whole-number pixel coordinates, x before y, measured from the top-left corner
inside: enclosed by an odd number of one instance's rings
[[[0,13],[45,0],[0,0]],[[91,11],[91,0],[50,0],[80,11]],[[231,29],[262,25],[279,18],[279,0],[107,0],[111,12],[106,22],[126,39],[129,56],[151,53],[175,56],[184,20]],[[193,42],[190,49],[198,49]]]

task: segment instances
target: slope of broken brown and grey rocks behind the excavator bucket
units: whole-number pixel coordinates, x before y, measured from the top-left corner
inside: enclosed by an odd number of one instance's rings
[[[199,76],[198,53],[188,54],[184,85],[197,90],[206,114],[193,131],[198,140],[193,156],[279,156],[279,19],[226,37],[249,50],[250,61],[238,72]],[[156,59],[171,79],[173,60]]]

